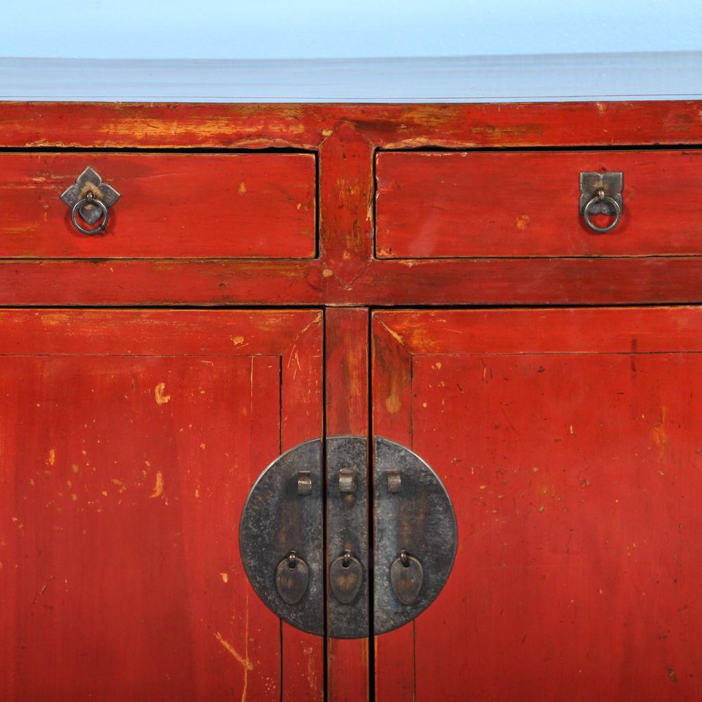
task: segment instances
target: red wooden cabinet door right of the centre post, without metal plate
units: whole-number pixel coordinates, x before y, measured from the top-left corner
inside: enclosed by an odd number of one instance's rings
[[[374,315],[373,432],[458,519],[379,700],[702,697],[701,352],[699,307]]]

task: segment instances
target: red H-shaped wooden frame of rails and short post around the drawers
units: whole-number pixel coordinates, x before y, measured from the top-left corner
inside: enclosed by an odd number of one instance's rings
[[[317,150],[314,260],[1,260],[2,305],[501,305],[702,300],[698,259],[373,256],[380,149],[693,146],[698,101],[512,105],[8,102],[0,148]],[[105,176],[107,178],[107,176]],[[58,194],[57,194],[58,197]],[[675,225],[674,218],[671,226]]]

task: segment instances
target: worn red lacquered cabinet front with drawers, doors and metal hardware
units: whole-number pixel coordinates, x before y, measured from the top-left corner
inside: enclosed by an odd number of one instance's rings
[[[701,110],[5,103],[0,698],[702,698]]]

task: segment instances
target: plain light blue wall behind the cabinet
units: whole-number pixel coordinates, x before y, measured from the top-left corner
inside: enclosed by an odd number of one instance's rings
[[[347,58],[702,48],[702,0],[0,0],[0,56]]]

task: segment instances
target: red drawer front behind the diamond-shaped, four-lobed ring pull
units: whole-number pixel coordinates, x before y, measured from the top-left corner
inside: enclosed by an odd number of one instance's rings
[[[121,194],[91,236],[60,199],[86,166]],[[6,153],[0,257],[311,258],[315,192],[314,154]]]

